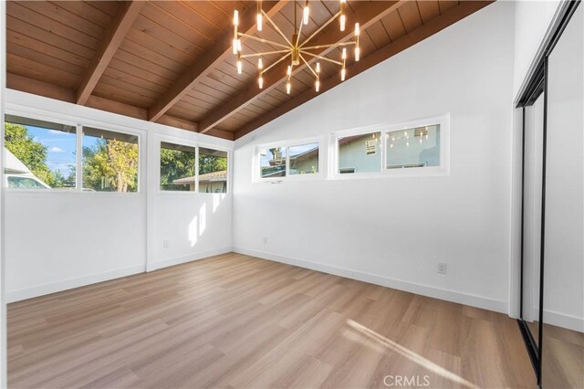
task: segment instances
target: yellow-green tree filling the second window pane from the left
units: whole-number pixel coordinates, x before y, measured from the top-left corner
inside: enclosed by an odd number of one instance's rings
[[[83,148],[83,186],[97,191],[138,189],[138,144],[101,139]]]

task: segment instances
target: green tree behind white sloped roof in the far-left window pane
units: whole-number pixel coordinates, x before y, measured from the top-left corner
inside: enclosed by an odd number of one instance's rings
[[[5,123],[5,147],[36,177],[56,187],[55,174],[47,166],[47,147],[36,142],[21,124]]]

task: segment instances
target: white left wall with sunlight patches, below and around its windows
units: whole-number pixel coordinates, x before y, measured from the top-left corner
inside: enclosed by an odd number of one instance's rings
[[[233,142],[62,101],[6,91],[6,112],[141,136],[140,193],[5,189],[8,300],[22,300],[231,249],[231,195],[158,190],[158,142],[231,150]],[[193,218],[198,220],[193,239]],[[201,220],[204,220],[205,228]],[[162,245],[168,240],[168,248]]]

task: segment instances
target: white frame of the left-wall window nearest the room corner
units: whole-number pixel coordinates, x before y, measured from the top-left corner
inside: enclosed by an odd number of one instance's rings
[[[156,165],[158,166],[158,171],[156,172],[156,191],[159,195],[227,195],[231,193],[231,150],[214,145],[212,143],[204,143],[204,142],[197,142],[194,140],[188,140],[184,138],[174,137],[170,135],[158,135],[155,139],[155,151],[156,152]],[[162,142],[165,143],[173,143],[181,146],[193,147],[194,148],[194,191],[164,191],[161,189],[161,149],[162,149]],[[211,149],[216,150],[218,152],[226,152],[227,153],[227,187],[226,192],[223,193],[202,193],[199,192],[199,149]]]

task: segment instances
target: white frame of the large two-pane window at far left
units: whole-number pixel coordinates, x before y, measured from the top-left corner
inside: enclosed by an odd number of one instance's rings
[[[144,163],[145,155],[147,154],[147,147],[145,144],[146,140],[146,133],[142,130],[134,129],[132,127],[127,126],[120,126],[118,124],[103,122],[103,121],[95,121],[91,119],[84,119],[78,118],[76,116],[70,116],[67,114],[57,113],[57,112],[49,112],[46,110],[38,110],[38,109],[31,109],[31,108],[20,108],[20,106],[14,107],[6,107],[4,115],[12,115],[18,116],[21,118],[29,118],[34,119],[36,121],[48,121],[54,122],[57,124],[64,124],[68,126],[73,126],[76,128],[76,187],[75,189],[71,190],[62,190],[57,188],[50,188],[46,191],[40,191],[38,189],[23,189],[23,188],[8,188],[5,185],[5,173],[0,172],[2,176],[2,180],[0,182],[0,187],[5,188],[10,192],[16,193],[30,193],[36,195],[43,195],[43,194],[59,194],[59,195],[70,195],[70,194],[87,194],[87,195],[141,195],[144,192],[144,188],[142,187],[142,167]],[[138,137],[138,186],[136,192],[84,192],[83,191],[83,127],[93,127],[99,130],[104,131],[111,131],[111,132],[120,132],[129,135],[134,135]],[[144,172],[147,173],[147,172]]]

